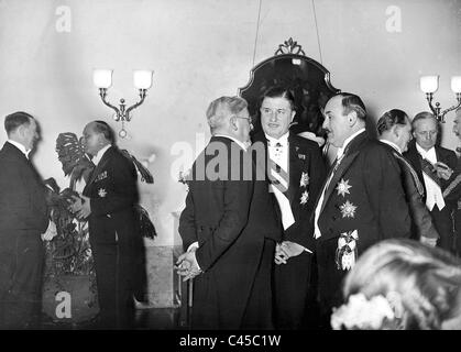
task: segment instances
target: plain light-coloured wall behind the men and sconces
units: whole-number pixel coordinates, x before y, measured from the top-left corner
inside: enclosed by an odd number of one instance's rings
[[[56,31],[61,6],[70,9],[69,33]],[[363,97],[373,118],[391,108],[410,116],[427,110],[420,75],[439,74],[437,100],[443,108],[454,101],[449,78],[461,75],[461,1],[317,0],[314,6],[321,62],[332,84]],[[389,6],[402,10],[400,33],[386,31]],[[195,145],[196,133],[207,139],[208,103],[237,94],[253,63],[272,56],[288,37],[320,61],[312,1],[262,0],[254,46],[259,7],[259,0],[0,0],[0,116],[25,110],[37,118],[43,141],[34,162],[43,177],[65,187],[54,152],[57,134],[79,134],[94,119],[120,128],[99,100],[92,68],[113,68],[109,99],[124,97],[129,103],[136,99],[132,69],[154,69],[154,85],[119,145],[140,160],[156,154],[150,165],[155,185],[140,185],[142,204],[160,232],[154,245],[178,244],[172,212],[182,209],[186,191],[171,176],[172,146]],[[448,147],[457,144],[452,116],[442,140]]]

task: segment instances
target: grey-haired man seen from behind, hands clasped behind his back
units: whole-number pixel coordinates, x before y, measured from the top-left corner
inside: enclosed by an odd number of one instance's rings
[[[193,165],[179,234],[179,275],[194,279],[193,329],[272,329],[272,270],[279,219],[250,143],[246,101],[210,103],[211,140]],[[257,146],[256,146],[257,148]],[[248,151],[246,151],[248,150]],[[264,148],[256,157],[265,158]]]

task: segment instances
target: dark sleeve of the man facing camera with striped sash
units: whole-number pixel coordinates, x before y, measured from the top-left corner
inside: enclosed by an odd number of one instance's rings
[[[311,215],[315,211],[316,199],[321,190],[326,177],[326,166],[319,147],[310,150],[309,163],[309,199],[299,219],[285,231],[284,240],[298,243],[305,249],[314,251],[314,223]]]

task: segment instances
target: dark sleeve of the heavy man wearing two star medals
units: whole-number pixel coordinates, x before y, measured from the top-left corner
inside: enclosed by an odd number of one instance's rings
[[[383,147],[374,147],[367,154],[364,165],[364,183],[371,207],[377,218],[380,239],[408,238],[411,219],[400,169],[395,158]],[[362,238],[367,246],[369,237]],[[360,242],[360,241],[359,241]]]

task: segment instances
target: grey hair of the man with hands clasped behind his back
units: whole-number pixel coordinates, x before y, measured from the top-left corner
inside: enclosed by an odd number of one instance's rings
[[[215,130],[223,125],[224,118],[231,114],[238,114],[248,108],[248,102],[241,97],[220,97],[210,102],[207,109],[207,121],[211,134]]]

